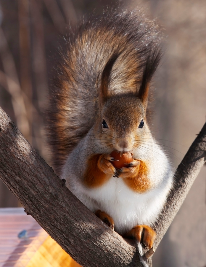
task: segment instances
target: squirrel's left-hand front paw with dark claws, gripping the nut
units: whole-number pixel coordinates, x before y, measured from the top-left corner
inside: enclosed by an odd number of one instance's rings
[[[105,174],[113,174],[114,176],[118,177],[116,169],[111,163],[111,161],[114,161],[114,160],[115,159],[112,158],[110,155],[102,154],[99,157],[99,160],[97,162],[97,166]]]

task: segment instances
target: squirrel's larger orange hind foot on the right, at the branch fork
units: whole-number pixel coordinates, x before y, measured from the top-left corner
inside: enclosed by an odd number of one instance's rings
[[[155,231],[148,225],[136,225],[124,237],[133,237],[138,242],[145,245],[146,248],[151,249],[156,238]]]

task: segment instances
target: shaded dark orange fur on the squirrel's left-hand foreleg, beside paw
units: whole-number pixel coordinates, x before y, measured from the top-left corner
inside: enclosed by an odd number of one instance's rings
[[[84,184],[87,187],[99,187],[108,181],[110,175],[105,174],[97,167],[97,162],[101,154],[97,154],[89,158],[87,169],[84,174]]]

